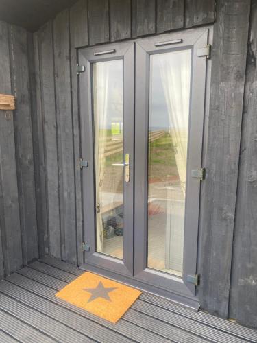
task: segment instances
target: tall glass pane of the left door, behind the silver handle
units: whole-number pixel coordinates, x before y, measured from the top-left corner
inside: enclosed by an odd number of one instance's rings
[[[123,60],[93,64],[97,251],[123,258]]]

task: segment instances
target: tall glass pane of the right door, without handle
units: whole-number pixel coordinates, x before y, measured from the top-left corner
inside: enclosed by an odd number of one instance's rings
[[[148,266],[182,276],[191,50],[150,57]]]

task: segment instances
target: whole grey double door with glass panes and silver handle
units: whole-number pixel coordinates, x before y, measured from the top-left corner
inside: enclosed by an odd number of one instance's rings
[[[209,34],[79,51],[83,268],[194,307]]]

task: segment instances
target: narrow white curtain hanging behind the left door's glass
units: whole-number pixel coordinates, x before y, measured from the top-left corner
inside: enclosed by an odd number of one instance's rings
[[[107,140],[107,111],[108,111],[108,83],[109,64],[99,62],[93,67],[93,95],[95,114],[95,175],[96,175],[96,205],[97,205],[97,251],[103,252],[103,177],[106,160],[103,147]]]

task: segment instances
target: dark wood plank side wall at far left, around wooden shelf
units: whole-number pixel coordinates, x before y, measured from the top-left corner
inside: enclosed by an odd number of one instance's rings
[[[38,258],[29,42],[25,29],[0,21],[0,93],[16,110],[0,110],[0,276]]]

